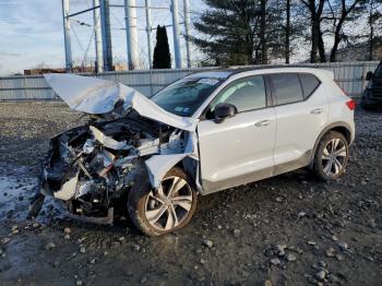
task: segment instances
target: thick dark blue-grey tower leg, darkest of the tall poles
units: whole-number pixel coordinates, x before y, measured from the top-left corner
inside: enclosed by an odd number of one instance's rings
[[[109,0],[99,0],[100,27],[103,36],[104,70],[112,70]]]

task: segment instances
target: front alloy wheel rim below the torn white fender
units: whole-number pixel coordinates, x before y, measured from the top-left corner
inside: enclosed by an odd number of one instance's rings
[[[155,229],[171,230],[188,216],[192,200],[192,189],[183,178],[167,177],[157,190],[151,190],[147,195],[146,219]]]

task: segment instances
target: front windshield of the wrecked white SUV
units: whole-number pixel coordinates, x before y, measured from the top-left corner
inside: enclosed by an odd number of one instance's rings
[[[191,117],[222,84],[223,79],[182,79],[156,94],[152,100],[168,112]]]

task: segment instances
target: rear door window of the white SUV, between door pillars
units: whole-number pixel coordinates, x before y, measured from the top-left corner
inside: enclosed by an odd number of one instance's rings
[[[300,80],[297,74],[272,74],[276,105],[290,104],[303,100]]]

